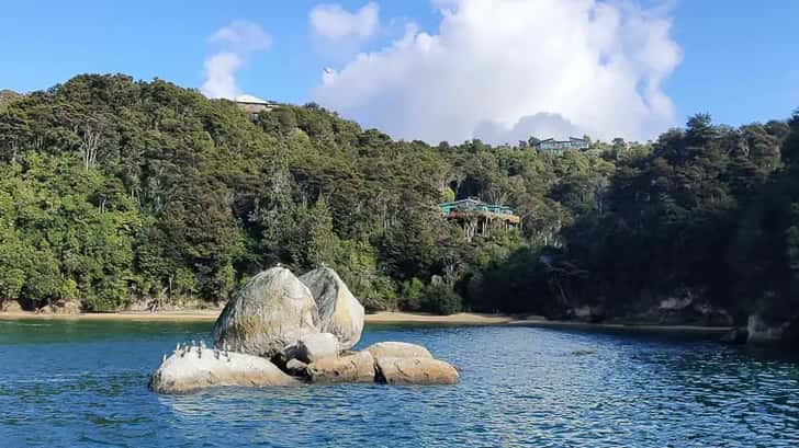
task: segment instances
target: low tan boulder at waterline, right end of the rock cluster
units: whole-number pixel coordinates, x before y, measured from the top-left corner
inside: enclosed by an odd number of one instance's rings
[[[376,378],[389,384],[455,384],[460,381],[452,365],[426,357],[378,358]]]

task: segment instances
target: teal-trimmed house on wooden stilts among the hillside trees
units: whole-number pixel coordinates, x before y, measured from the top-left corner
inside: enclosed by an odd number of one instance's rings
[[[521,222],[513,208],[474,197],[439,204],[439,208],[441,216],[461,225],[466,241],[472,241],[475,234],[487,234],[492,228],[514,229]]]

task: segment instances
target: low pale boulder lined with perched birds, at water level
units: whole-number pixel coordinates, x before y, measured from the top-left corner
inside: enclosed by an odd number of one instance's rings
[[[161,363],[149,387],[158,393],[187,393],[218,386],[294,386],[299,381],[258,356],[196,347],[180,351]]]

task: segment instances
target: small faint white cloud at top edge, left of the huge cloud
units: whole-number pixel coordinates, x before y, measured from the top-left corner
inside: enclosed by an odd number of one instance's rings
[[[311,28],[324,39],[367,39],[380,26],[380,8],[369,2],[356,12],[349,12],[339,4],[317,4],[311,10]]]

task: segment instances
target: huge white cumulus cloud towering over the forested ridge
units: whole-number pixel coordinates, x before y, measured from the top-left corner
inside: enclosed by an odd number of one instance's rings
[[[648,139],[675,123],[663,81],[682,58],[671,19],[620,1],[434,0],[437,33],[323,77],[314,100],[395,137],[505,142]]]

